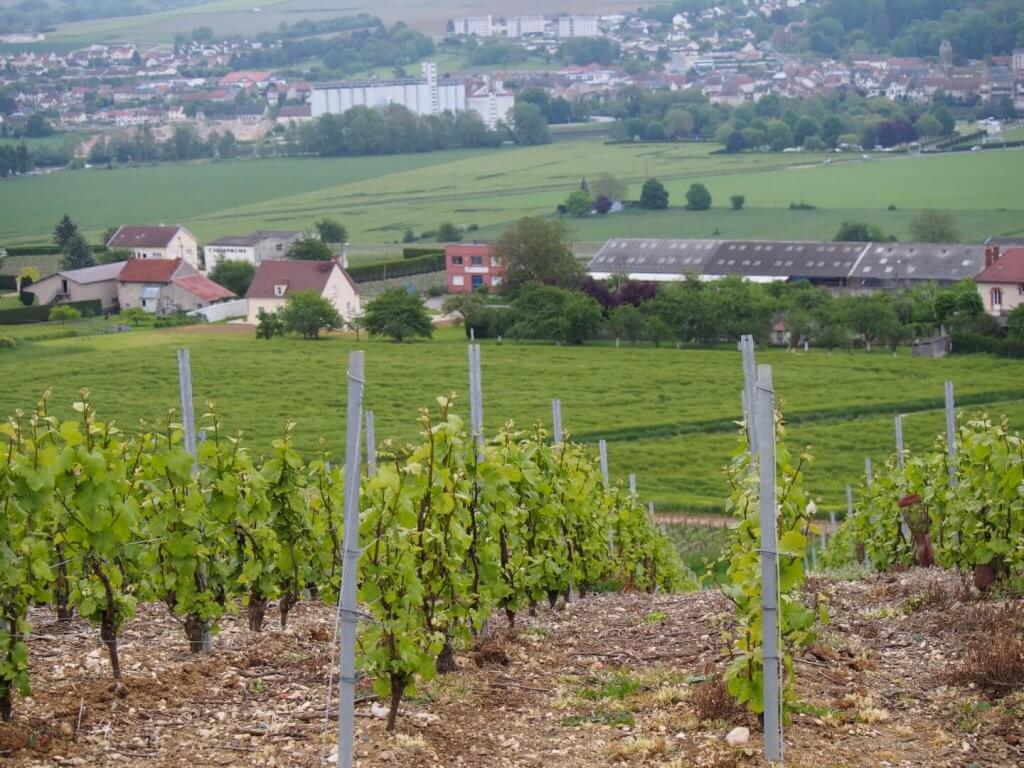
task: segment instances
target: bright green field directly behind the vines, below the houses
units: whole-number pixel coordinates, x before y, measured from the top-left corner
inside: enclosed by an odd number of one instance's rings
[[[211,327],[28,343],[0,352],[0,412],[29,409],[47,387],[52,409],[71,418],[86,387],[101,417],[131,429],[177,407],[175,350],[191,350],[197,413],[212,400],[231,432],[266,451],[286,423],[306,455],[319,439],[339,454],[344,442],[345,365],[352,349],[367,352],[367,407],[378,438],[415,439],[419,409],[435,397],[458,396],[467,412],[466,341],[443,331],[430,342],[356,343],[258,341],[251,330]],[[641,493],[666,509],[721,509],[721,475],[735,447],[741,372],[731,349],[593,345],[555,347],[484,342],[484,421],[488,431],[508,419],[524,428],[550,424],[550,401],[563,402],[566,429],[595,443],[608,439],[612,474],[636,472]],[[987,356],[943,360],[876,351],[790,353],[759,350],[770,362],[778,397],[792,420],[790,439],[812,445],[809,486],[822,508],[842,508],[843,488],[856,481],[863,458],[881,464],[893,445],[896,413],[909,413],[907,443],[930,444],[942,430],[943,382],[952,379],[966,411],[1008,414],[1024,424],[1024,364]]]

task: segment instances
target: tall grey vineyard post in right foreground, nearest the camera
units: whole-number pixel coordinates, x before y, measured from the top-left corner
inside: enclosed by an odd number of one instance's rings
[[[748,337],[749,338],[749,337]],[[758,369],[754,414],[758,435],[761,513],[761,622],[764,634],[765,758],[782,760],[782,702],[778,630],[778,531],[775,503],[775,391],[771,366]],[[813,550],[812,550],[813,553]]]

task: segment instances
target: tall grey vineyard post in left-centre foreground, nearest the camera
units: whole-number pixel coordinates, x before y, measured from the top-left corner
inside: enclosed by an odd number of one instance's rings
[[[352,768],[355,737],[355,580],[359,562],[359,427],[362,416],[362,352],[348,354],[345,411],[345,530],[341,565],[341,669],[338,675],[338,766]]]

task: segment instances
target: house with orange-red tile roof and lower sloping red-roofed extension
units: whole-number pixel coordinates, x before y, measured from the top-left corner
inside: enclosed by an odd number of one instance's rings
[[[118,303],[154,314],[173,314],[237,298],[183,259],[132,259],[118,274]]]

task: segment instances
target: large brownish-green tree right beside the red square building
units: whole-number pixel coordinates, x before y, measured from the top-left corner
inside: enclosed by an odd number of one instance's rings
[[[498,250],[508,265],[513,293],[527,283],[572,287],[582,275],[568,230],[560,221],[521,218],[504,231]]]

